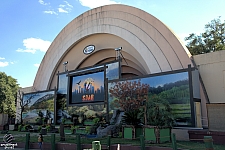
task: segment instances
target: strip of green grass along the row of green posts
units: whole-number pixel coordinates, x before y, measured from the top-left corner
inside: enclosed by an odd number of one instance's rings
[[[14,142],[25,142],[26,141],[26,133],[28,132],[18,132],[18,131],[10,131],[10,133],[15,137]],[[4,136],[2,134],[2,136]],[[76,135],[73,134],[66,134],[65,135],[66,141],[60,141],[60,136],[57,133],[55,135],[56,143],[76,143]],[[30,142],[36,143],[37,142],[38,133],[31,133],[30,134]],[[82,144],[91,144],[92,141],[100,141],[101,145],[107,144],[107,138],[94,138],[88,139],[81,136],[81,143]],[[51,134],[44,135],[44,142],[50,143],[51,142]],[[140,145],[140,139],[130,140],[130,139],[123,139],[123,138],[111,138],[111,144],[121,144],[121,145]],[[162,144],[153,144],[153,143],[146,143],[146,146],[158,146],[158,147],[171,147],[172,143],[162,143]],[[205,144],[200,142],[190,142],[190,141],[177,141],[177,147],[181,149],[189,149],[189,150],[205,150]],[[214,150],[223,150],[225,149],[225,145],[213,145]]]

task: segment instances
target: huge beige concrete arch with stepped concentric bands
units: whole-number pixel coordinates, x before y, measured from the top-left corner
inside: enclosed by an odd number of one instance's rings
[[[90,55],[87,45],[95,45]],[[174,33],[154,16],[126,5],[107,5],[89,10],[71,21],[58,34],[38,69],[34,85],[37,90],[56,86],[57,72],[93,65],[115,57],[114,48],[122,46],[128,65],[124,71],[137,75],[187,68],[192,64],[187,48]],[[94,64],[95,64],[94,63]]]

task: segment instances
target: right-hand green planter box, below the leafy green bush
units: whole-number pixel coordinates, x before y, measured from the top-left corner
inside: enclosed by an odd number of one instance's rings
[[[145,136],[145,140],[152,143],[164,143],[171,141],[171,128],[144,126],[143,134]]]

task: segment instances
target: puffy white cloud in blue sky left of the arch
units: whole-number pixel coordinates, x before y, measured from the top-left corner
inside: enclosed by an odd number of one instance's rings
[[[40,38],[27,38],[23,40],[23,45],[25,49],[18,48],[16,51],[34,54],[38,50],[46,52],[51,45],[51,42]]]

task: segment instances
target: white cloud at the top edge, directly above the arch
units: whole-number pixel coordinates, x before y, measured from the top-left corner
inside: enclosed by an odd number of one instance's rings
[[[120,4],[118,2],[115,2],[113,0],[79,0],[80,4],[82,6],[86,6],[89,8],[96,8],[103,5],[109,5],[109,4]]]

